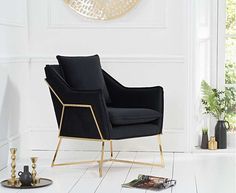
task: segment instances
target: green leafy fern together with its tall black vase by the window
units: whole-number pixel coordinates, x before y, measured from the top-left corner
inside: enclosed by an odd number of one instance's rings
[[[220,91],[212,88],[206,81],[201,83],[202,104],[206,114],[211,114],[217,119],[215,126],[215,138],[219,149],[227,147],[226,130],[230,129],[226,115],[236,108],[235,94],[231,90]]]

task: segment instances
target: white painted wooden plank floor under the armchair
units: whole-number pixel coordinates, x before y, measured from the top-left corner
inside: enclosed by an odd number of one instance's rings
[[[175,187],[162,193],[236,193],[235,153],[165,153],[165,168],[133,165],[127,163],[104,164],[103,177],[98,175],[98,165],[50,167],[53,152],[36,152],[39,156],[38,175],[50,178],[53,185],[34,190],[14,190],[0,187],[0,192],[20,193],[149,193],[138,189],[122,188],[121,184],[135,179],[138,174],[169,177],[177,180]],[[59,160],[75,161],[79,158],[97,159],[99,152],[59,152]],[[106,153],[108,156],[108,153]],[[116,152],[118,159],[135,161],[158,161],[156,152]],[[50,158],[50,159],[49,159]],[[30,160],[19,160],[17,171]],[[10,168],[0,171],[0,180],[9,178]]]

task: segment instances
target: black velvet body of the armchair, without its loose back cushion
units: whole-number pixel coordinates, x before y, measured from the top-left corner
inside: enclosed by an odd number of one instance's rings
[[[93,67],[94,65],[91,66]],[[46,81],[55,92],[50,90],[58,127],[63,105],[57,96],[64,105],[90,105],[104,139],[127,139],[162,133],[164,109],[162,87],[127,88],[103,71],[111,99],[107,106],[101,88],[91,89],[86,85],[84,89],[72,88],[65,80],[69,73],[64,72],[63,75],[59,65],[46,65],[45,73]],[[78,76],[81,75],[81,71],[77,73]],[[60,136],[100,139],[91,109],[65,107]]]

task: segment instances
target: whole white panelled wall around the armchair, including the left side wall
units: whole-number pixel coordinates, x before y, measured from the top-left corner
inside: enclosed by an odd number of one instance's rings
[[[165,90],[164,150],[189,144],[191,83],[188,0],[140,0],[130,13],[94,21],[63,0],[0,1],[0,160],[8,148],[52,150],[57,125],[43,68],[55,56],[98,53],[102,67],[126,86]],[[3,6],[2,6],[3,5]],[[115,150],[156,150],[156,139],[115,143]],[[64,149],[98,149],[66,142]]]

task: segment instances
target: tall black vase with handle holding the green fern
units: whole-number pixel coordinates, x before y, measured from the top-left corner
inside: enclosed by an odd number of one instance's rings
[[[218,149],[226,149],[227,147],[226,130],[228,129],[228,127],[226,127],[225,123],[227,123],[229,126],[228,121],[217,121],[215,126],[215,138],[217,141]]]

